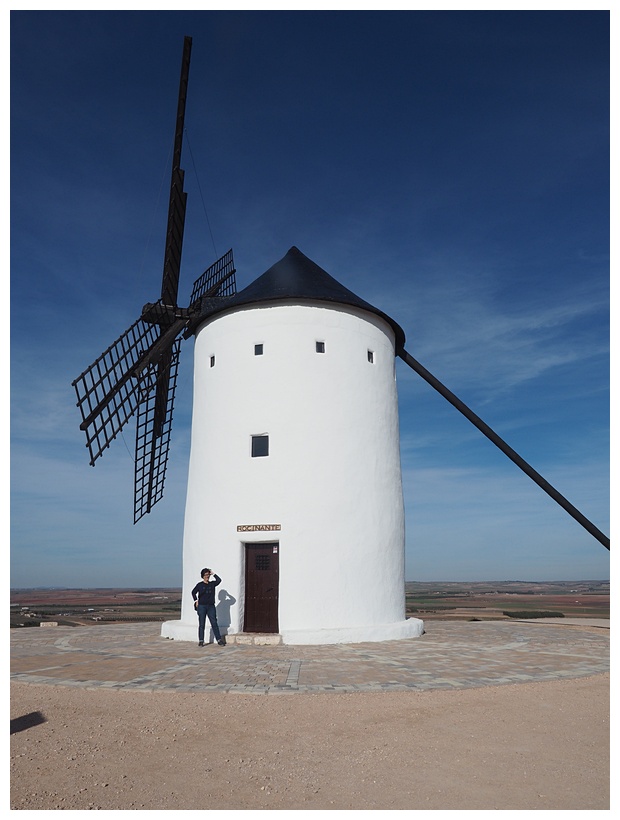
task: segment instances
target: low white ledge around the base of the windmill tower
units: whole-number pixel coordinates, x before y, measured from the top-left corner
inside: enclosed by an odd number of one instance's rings
[[[222,635],[226,635],[228,643],[257,643],[275,645],[278,643],[291,646],[338,643],[378,643],[380,641],[399,641],[404,638],[419,638],[424,632],[424,621],[419,618],[407,618],[391,624],[374,624],[370,626],[337,627],[334,629],[284,629],[280,635],[261,635],[264,640],[249,640],[248,633],[228,633],[226,627],[221,628]],[[183,621],[164,621],[161,626],[162,638],[172,638],[176,641],[198,640],[198,624],[184,623]],[[267,640],[267,637],[270,640]],[[207,640],[209,638],[207,637]]]

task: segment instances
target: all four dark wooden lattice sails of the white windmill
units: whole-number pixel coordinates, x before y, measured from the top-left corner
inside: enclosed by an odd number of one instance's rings
[[[190,307],[177,304],[187,203],[181,153],[191,46],[191,37],[186,37],[160,299],[146,304],[140,318],[73,382],[91,465],[137,411],[134,523],[163,495],[181,335],[187,338],[190,321],[199,320],[203,297],[227,297],[236,292],[232,251],[228,251],[196,280]]]

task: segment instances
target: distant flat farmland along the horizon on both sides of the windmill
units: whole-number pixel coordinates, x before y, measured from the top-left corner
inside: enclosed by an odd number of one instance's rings
[[[565,617],[609,618],[609,581],[407,582],[408,615],[423,620],[508,620],[505,612],[553,612]],[[64,626],[181,617],[181,590],[11,590],[11,627],[54,621]]]

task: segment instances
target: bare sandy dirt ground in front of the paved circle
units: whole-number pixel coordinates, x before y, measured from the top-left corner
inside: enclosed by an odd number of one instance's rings
[[[342,695],[16,683],[11,719],[12,809],[609,808],[608,675]]]

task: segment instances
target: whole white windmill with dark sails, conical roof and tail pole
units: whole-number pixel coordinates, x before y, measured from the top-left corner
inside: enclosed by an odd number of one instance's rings
[[[190,50],[185,38],[160,299],[73,383],[91,464],[137,413],[135,523],[163,494],[180,346],[196,337],[182,618],[162,634],[194,639],[189,589],[207,563],[227,583],[220,603],[229,620],[219,620],[229,634],[330,643],[421,633],[400,601],[396,357],[609,549],[592,522],[405,350],[393,319],[297,248],[239,293],[229,251],[196,280],[189,307],[177,305]],[[364,430],[372,435],[362,442]],[[331,565],[329,611],[307,592],[317,565]],[[368,567],[380,567],[372,604]]]

